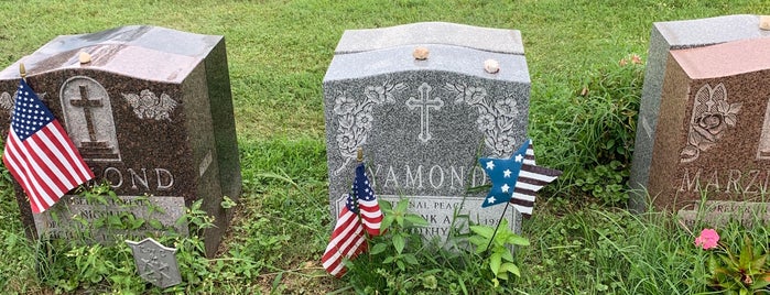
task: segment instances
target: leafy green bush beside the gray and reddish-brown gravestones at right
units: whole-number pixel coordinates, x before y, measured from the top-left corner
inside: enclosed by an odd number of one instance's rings
[[[608,206],[628,201],[644,70],[637,55],[620,61],[585,73],[572,92],[544,97],[549,102],[532,108],[545,114],[533,119],[531,133],[539,155],[558,159],[561,189]]]

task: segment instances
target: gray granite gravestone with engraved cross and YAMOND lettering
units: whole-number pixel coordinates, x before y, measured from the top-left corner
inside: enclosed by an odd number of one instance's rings
[[[509,157],[527,140],[529,92],[519,31],[441,22],[345,31],[324,77],[333,215],[361,148],[377,197],[409,198],[430,222],[425,237],[446,237],[455,209],[466,217],[457,225],[495,226],[506,206],[482,209],[486,192],[466,189],[489,183],[478,157]],[[505,218],[520,231],[520,212]]]

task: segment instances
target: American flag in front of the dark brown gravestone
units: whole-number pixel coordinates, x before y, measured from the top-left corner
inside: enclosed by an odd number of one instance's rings
[[[24,79],[19,84],[2,162],[40,214],[94,178],[51,110]]]

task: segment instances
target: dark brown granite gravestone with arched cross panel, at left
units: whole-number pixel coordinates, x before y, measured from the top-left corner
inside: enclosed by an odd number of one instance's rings
[[[94,182],[108,181],[119,196],[107,204],[65,196],[32,216],[17,189],[31,236],[73,238],[84,233],[73,217],[94,223],[127,215],[156,219],[163,229],[145,223],[126,234],[186,234],[186,225],[175,221],[203,200],[217,226],[204,233],[206,252],[216,252],[231,217],[220,203],[224,196],[237,199],[241,188],[224,36],[137,25],[58,36],[0,72],[3,139],[20,63],[94,171]],[[89,236],[112,239],[101,230]]]

